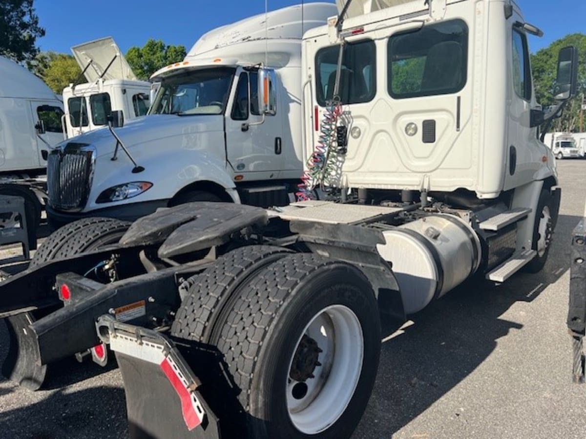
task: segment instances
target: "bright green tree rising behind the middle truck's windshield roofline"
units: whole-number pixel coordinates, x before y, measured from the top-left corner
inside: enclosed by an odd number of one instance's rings
[[[161,40],[149,39],[142,47],[128,49],[126,59],[138,78],[148,79],[159,68],[183,60],[186,54],[184,46],[166,46]]]

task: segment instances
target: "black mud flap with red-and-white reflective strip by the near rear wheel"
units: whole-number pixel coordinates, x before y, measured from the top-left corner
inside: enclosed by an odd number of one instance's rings
[[[124,380],[128,430],[136,438],[219,438],[199,380],[159,332],[100,317],[98,335],[115,352]]]

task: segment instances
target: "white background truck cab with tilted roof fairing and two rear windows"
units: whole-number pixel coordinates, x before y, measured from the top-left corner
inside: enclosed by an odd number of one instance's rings
[[[122,111],[126,121],[147,114],[151,83],[138,80],[111,37],[71,47],[71,52],[87,83],[63,90],[66,138],[107,126],[112,111]]]

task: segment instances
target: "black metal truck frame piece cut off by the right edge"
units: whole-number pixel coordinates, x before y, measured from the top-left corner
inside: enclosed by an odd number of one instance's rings
[[[586,218],[572,232],[570,261],[570,307],[568,331],[572,337],[572,376],[575,383],[584,383],[584,347],[586,329]]]

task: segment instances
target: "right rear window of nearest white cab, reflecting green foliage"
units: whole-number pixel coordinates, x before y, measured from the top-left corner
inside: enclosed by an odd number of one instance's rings
[[[393,35],[387,57],[391,97],[456,93],[466,85],[468,26],[450,20]]]

